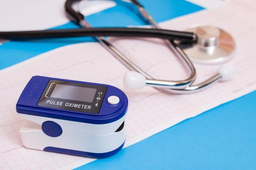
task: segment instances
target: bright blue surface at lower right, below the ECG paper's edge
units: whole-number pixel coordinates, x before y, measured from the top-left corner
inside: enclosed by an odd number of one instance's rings
[[[76,170],[255,170],[255,101],[256,91]]]

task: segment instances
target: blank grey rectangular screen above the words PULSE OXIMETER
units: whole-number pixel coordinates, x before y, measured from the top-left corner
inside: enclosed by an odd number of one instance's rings
[[[96,88],[57,84],[55,85],[50,97],[82,102],[93,102],[96,91]]]

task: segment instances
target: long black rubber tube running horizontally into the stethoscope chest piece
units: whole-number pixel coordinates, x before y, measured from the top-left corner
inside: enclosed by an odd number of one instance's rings
[[[122,37],[153,37],[181,42],[193,42],[195,34],[173,30],[148,29],[148,28],[78,28],[39,31],[14,31],[0,32],[1,39],[45,39],[79,36],[122,36]]]

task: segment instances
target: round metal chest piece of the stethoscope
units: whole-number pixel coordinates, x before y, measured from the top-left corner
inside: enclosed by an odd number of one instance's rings
[[[195,62],[200,64],[224,63],[232,57],[235,40],[226,31],[213,26],[195,26],[187,29],[197,34],[197,43],[181,48]]]

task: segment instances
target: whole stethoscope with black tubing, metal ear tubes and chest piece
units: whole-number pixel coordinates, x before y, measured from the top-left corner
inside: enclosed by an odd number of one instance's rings
[[[235,50],[235,41],[230,34],[213,26],[196,26],[186,32],[162,30],[153,17],[145,10],[138,0],[131,0],[138,8],[138,12],[143,16],[154,29],[147,28],[92,28],[84,19],[84,16],[76,11],[72,5],[78,0],[66,0],[65,10],[71,19],[83,27],[80,29],[61,29],[43,31],[20,31],[20,32],[0,32],[1,38],[50,38],[50,37],[74,37],[74,36],[95,36],[100,44],[110,51],[128,71],[124,76],[124,86],[127,89],[136,90],[150,85],[163,88],[172,93],[192,93],[200,91],[218,81],[228,81],[233,77],[235,69],[230,65],[221,66],[217,73],[207,80],[194,85],[196,80],[196,69],[190,60],[195,62],[215,64],[229,60],[231,53]],[[187,65],[190,76],[185,80],[158,80],[144,72],[122,52],[118,51],[103,36],[137,36],[154,37],[166,39],[166,44],[170,49]],[[190,58],[189,58],[189,57]]]

